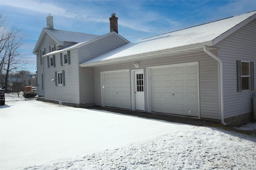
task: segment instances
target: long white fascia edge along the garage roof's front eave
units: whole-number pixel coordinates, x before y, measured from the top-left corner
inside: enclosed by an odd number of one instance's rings
[[[135,55],[127,55],[127,56],[123,56],[123,57],[118,57],[118,58],[113,58],[113,59],[108,59],[108,60],[103,60],[103,61],[95,61],[95,62],[91,62],[91,63],[82,63],[79,64],[79,66],[81,67],[86,67],[86,66],[94,66],[94,65],[98,65],[98,64],[102,64],[102,63],[110,63],[112,61],[124,61],[126,60],[126,58],[140,58],[143,57],[145,55],[154,55],[157,53],[171,53],[171,52],[177,52],[177,51],[185,51],[185,50],[189,50],[189,49],[199,49],[202,48],[204,46],[207,47],[211,47],[212,46],[212,41],[208,41],[208,42],[203,42],[203,43],[198,43],[198,44],[191,44],[191,45],[186,45],[186,46],[180,46],[180,47],[174,47],[171,49],[162,49],[162,50],[158,50],[158,51],[150,51],[150,52],[146,52],[146,53],[140,53],[140,54],[135,54]]]

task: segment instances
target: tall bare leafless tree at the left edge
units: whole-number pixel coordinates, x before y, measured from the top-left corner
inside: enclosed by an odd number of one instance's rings
[[[18,37],[20,30],[12,27],[8,29],[6,18],[0,14],[0,73],[5,74],[5,86],[8,89],[8,76],[12,70],[21,68],[26,63],[22,63],[19,48],[22,45],[22,38]]]

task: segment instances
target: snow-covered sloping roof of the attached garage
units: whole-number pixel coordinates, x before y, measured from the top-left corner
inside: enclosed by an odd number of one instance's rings
[[[172,49],[176,47],[183,47],[188,45],[195,45],[199,43],[212,44],[212,41],[224,34],[226,31],[232,29],[242,21],[256,14],[256,11],[226,18],[223,20],[213,21],[210,23],[181,29],[178,31],[157,35],[142,39],[138,43],[128,43],[108,53],[95,57],[85,63],[84,65],[94,62],[107,61],[126,56],[138,55],[143,53],[150,53],[164,49]]]

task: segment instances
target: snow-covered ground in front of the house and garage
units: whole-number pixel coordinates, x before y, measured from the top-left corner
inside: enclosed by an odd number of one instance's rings
[[[1,170],[247,169],[256,123],[234,130],[67,107],[6,94]],[[255,134],[255,133],[254,133]]]

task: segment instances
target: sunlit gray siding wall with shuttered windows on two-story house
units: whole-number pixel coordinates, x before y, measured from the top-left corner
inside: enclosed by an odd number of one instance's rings
[[[63,52],[63,54],[66,51]],[[55,55],[56,67],[47,66],[47,57],[44,57],[44,99],[58,102],[79,104],[79,67],[77,49],[70,51],[70,63],[60,65],[60,54]],[[65,86],[55,86],[55,72],[65,71]]]

